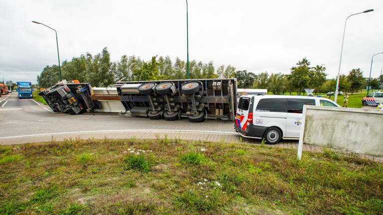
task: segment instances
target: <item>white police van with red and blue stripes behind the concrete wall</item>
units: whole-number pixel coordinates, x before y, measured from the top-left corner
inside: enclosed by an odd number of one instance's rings
[[[268,144],[298,139],[303,105],[340,107],[333,101],[307,96],[241,96],[234,129],[247,138],[264,138]]]

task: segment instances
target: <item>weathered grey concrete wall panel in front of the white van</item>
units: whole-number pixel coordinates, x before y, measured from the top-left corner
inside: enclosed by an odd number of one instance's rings
[[[383,157],[383,111],[305,106],[303,143]]]

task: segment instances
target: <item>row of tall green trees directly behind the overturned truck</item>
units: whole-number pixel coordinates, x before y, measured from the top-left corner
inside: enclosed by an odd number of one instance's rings
[[[140,57],[123,55],[117,62],[110,60],[105,47],[101,53],[92,56],[90,53],[73,57],[71,61],[63,61],[62,78],[89,82],[92,86],[107,87],[116,81],[144,81],[187,79],[187,63],[180,58],[172,62],[169,56],[153,56],[150,61]],[[235,68],[231,65],[214,68],[213,62],[189,62],[189,78],[233,78]],[[42,88],[53,86],[59,80],[57,65],[46,66],[37,76],[37,83]]]

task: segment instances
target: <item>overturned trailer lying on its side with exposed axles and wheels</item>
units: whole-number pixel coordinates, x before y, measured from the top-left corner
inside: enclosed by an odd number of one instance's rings
[[[191,122],[207,118],[234,120],[235,79],[117,82],[118,97],[132,116]]]

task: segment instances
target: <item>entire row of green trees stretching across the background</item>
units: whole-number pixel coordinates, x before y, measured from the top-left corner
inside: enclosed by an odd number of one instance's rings
[[[92,86],[107,87],[119,80],[172,80],[187,78],[187,63],[180,58],[172,62],[169,56],[153,56],[150,61],[144,61],[134,55],[123,55],[120,60],[112,62],[105,47],[101,53],[92,55],[82,54],[70,61],[63,61],[61,66],[62,78],[89,82]],[[296,92],[300,95],[305,88],[314,88],[316,93],[335,91],[336,80],[326,79],[326,67],[311,66],[307,58],[303,58],[290,69],[290,74],[262,72],[254,74],[246,70],[236,71],[235,67],[221,65],[214,68],[213,62],[202,63],[192,60],[189,62],[190,79],[202,78],[237,78],[238,88],[267,89],[273,94]],[[382,77],[371,79],[372,89],[378,89]],[[57,65],[46,66],[37,76],[41,88],[53,86],[59,80]],[[366,88],[368,80],[363,77],[361,69],[353,69],[349,74],[341,75],[340,91],[355,92]]]

